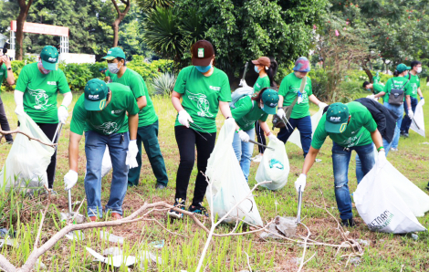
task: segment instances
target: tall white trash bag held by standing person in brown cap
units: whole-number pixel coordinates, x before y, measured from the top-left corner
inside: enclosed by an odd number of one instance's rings
[[[209,182],[212,183],[211,186],[210,184],[207,186],[206,191],[208,204],[212,213],[218,214],[219,218],[250,194],[250,188],[233,149],[234,133],[235,121],[233,119],[225,120],[205,171]],[[263,225],[253,196],[239,204],[238,208],[235,208],[226,218],[225,223],[234,224],[236,218],[244,218],[248,224]]]

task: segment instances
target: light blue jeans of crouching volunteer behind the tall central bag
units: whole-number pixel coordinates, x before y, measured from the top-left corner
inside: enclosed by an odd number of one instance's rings
[[[251,129],[245,132],[249,135],[250,140],[255,139],[255,129]],[[238,133],[235,133],[233,140],[233,148],[236,159],[238,160],[238,162],[240,162],[241,170],[245,174],[246,181],[248,182],[248,176],[250,173],[250,158],[252,157],[253,153],[253,143],[241,141],[240,137],[238,136]]]

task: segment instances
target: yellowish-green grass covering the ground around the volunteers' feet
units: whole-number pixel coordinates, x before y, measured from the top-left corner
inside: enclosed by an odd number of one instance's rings
[[[427,91],[426,91],[427,93]],[[5,103],[7,116],[10,118],[12,129],[16,128],[16,115],[14,113],[15,103],[12,93],[2,93],[2,99]],[[78,99],[75,95],[74,101]],[[155,202],[166,200],[173,204],[175,175],[179,162],[179,153],[177,144],[174,140],[173,121],[176,111],[169,98],[153,98],[154,107],[160,117],[160,136],[159,141],[162,147],[162,154],[166,162],[169,174],[169,186],[162,192],[154,190],[155,177],[152,173],[151,165],[148,162],[146,154],[143,154],[143,166],[141,169],[140,185],[128,190],[124,200],[123,209],[125,215],[131,214],[143,202]],[[71,109],[72,107],[70,107]],[[312,107],[312,111],[317,108]],[[424,106],[426,114],[425,126],[429,128],[429,105]],[[70,110],[71,113],[71,110]],[[52,201],[49,208],[47,219],[41,235],[41,243],[47,241],[55,232],[61,228],[58,212],[67,211],[67,194],[63,189],[62,178],[68,172],[68,124],[63,130],[58,146],[58,166],[56,173],[55,190],[60,194]],[[220,129],[224,119],[217,119],[217,126]],[[277,130],[278,131],[278,130]],[[2,142],[4,142],[3,140]],[[410,138],[401,139],[399,152],[390,152],[388,160],[407,178],[424,190],[429,182],[429,145],[422,144],[428,141],[420,135],[410,132]],[[303,198],[303,209],[301,218],[309,226],[312,236],[321,242],[336,243],[342,242],[340,235],[334,229],[336,223],[323,210],[314,207],[311,203],[321,204],[319,187],[325,195],[326,203],[330,211],[339,218],[336,208],[333,173],[330,159],[331,141],[327,140],[319,153],[321,162],[316,162],[309,172],[308,186]],[[83,178],[85,174],[85,152],[84,141],[80,142],[79,161],[78,161],[78,184],[72,189],[73,201],[81,201],[85,197]],[[271,192],[266,189],[256,190],[257,208],[264,221],[271,220],[274,216],[296,216],[298,197],[293,183],[295,182],[303,164],[302,151],[291,143],[286,145],[290,163],[290,173],[288,183],[277,192]],[[0,165],[3,165],[10,149],[9,145],[0,145]],[[255,154],[257,149],[255,148]],[[258,164],[252,162],[249,185],[255,185],[255,174]],[[350,187],[351,193],[356,189],[354,156],[351,159],[350,166]],[[194,169],[188,190],[188,198],[192,199],[194,190],[194,179],[196,169]],[[103,180],[102,186],[102,204],[106,204],[110,194],[109,174]],[[20,245],[16,247],[4,246],[0,252],[5,255],[16,266],[23,265],[26,257],[32,250],[34,239],[37,235],[37,228],[40,221],[40,210],[43,209],[46,202],[40,203],[38,200],[29,200],[20,195],[0,194],[3,197],[0,207],[3,207],[5,214],[12,214],[0,220],[1,226],[14,225],[17,233],[17,240]],[[276,205],[277,203],[277,205]],[[81,208],[81,212],[86,211],[86,204]],[[276,212],[277,211],[277,212]],[[351,229],[351,236],[370,241],[370,246],[365,246],[365,254],[361,259],[361,265],[358,267],[348,267],[353,271],[427,271],[429,270],[429,235],[420,233],[419,240],[414,241],[410,235],[387,235],[373,233],[363,223],[357,211],[353,209],[356,215],[358,226]],[[162,265],[148,263],[143,266],[149,271],[194,271],[197,267],[198,259],[203,250],[204,241],[207,235],[196,227],[192,220],[185,218],[182,221],[169,221],[165,214],[154,213],[153,215],[164,226],[171,231],[179,234],[172,235],[162,229],[159,225],[152,223],[134,223],[123,225],[114,229],[106,229],[115,235],[125,238],[124,245],[120,247],[132,256],[136,256],[141,248],[150,249],[152,253],[162,256]],[[424,225],[429,225],[429,214],[418,218]],[[205,225],[209,226],[207,222]],[[230,225],[221,225],[217,233],[225,233],[232,229]],[[243,230],[246,230],[244,226]],[[41,257],[42,262],[47,265],[48,271],[111,271],[112,267],[100,265],[92,262],[85,247],[91,247],[101,253],[103,249],[110,246],[118,246],[107,243],[99,239],[99,230],[85,231],[86,238],[83,242],[69,241],[67,238],[61,239],[47,254]],[[306,234],[305,229],[299,228],[298,232]],[[165,246],[162,249],[153,249],[149,246],[152,241],[165,240]],[[302,247],[293,243],[278,243],[274,241],[263,241],[256,235],[244,235],[234,237],[214,237],[212,245],[209,247],[205,257],[205,271],[239,271],[247,269],[246,254],[250,257],[250,264],[255,271],[293,271],[298,268],[292,260],[293,257],[302,255]],[[317,255],[309,261],[304,267],[306,271],[342,271],[345,269],[347,259],[335,257],[336,250],[326,246],[311,246],[308,249],[307,257],[314,253]],[[347,251],[342,251],[346,254]],[[118,271],[128,271],[127,267],[121,267]],[[131,271],[140,271],[137,267],[129,268]]]

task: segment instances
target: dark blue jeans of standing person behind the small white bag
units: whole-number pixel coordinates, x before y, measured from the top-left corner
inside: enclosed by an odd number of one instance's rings
[[[290,128],[289,125],[288,129],[281,128],[277,134],[277,139],[286,143],[292,132],[297,128],[301,136],[302,151],[304,152],[305,158],[309,152],[309,146],[311,144],[311,118],[310,116],[298,119],[289,118],[289,122],[292,125],[292,128]]]

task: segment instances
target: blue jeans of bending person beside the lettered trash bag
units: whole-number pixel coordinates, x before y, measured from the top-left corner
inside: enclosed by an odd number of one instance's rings
[[[353,217],[351,213],[351,195],[349,191],[349,163],[351,161],[351,151],[358,153],[361,159],[361,171],[363,175],[369,173],[375,164],[374,146],[372,143],[363,146],[353,146],[345,149],[333,142],[332,146],[332,166],[334,170],[335,199],[341,220]],[[358,175],[358,173],[356,173]],[[358,177],[358,184],[361,179]]]

